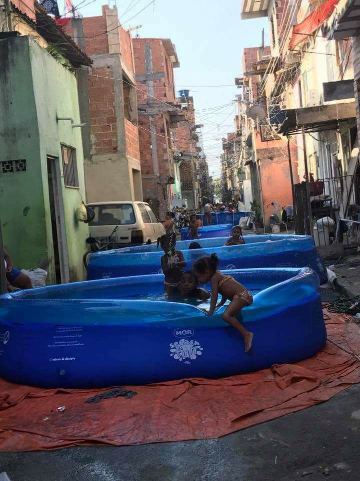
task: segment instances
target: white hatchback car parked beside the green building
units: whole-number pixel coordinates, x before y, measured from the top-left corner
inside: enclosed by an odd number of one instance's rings
[[[101,243],[108,242],[108,236],[118,225],[111,241],[114,247],[155,242],[165,233],[165,228],[146,202],[119,201],[93,202],[87,204],[95,216],[89,222],[90,235]]]

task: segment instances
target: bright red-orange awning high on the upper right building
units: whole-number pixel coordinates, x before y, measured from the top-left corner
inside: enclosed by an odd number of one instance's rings
[[[330,17],[339,0],[327,0],[308,15],[300,24],[292,27],[288,50],[294,48],[313,34]]]

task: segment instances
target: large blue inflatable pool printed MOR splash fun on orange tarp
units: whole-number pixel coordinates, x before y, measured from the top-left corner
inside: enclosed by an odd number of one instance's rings
[[[249,353],[221,319],[226,305],[210,317],[195,305],[164,300],[162,275],[134,276],[0,296],[0,376],[45,388],[219,378],[296,362],[322,348],[315,273],[230,273],[253,294],[242,310],[254,334]]]

